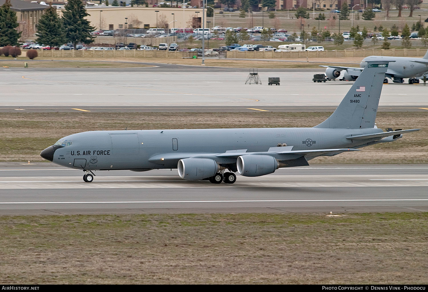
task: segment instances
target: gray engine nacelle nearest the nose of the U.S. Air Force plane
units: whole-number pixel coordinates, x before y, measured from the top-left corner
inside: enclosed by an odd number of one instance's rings
[[[220,166],[209,158],[184,158],[178,161],[178,175],[189,181],[209,178],[220,170]]]

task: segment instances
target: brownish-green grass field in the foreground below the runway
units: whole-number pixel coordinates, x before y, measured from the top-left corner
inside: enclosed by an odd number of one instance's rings
[[[428,213],[0,216],[3,284],[426,284]]]

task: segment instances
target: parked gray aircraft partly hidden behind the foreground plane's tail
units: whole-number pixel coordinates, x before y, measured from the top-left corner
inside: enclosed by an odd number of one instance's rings
[[[419,83],[424,75],[428,74],[428,51],[423,58],[414,57],[383,57],[383,56],[369,56],[363,59],[358,67],[341,67],[341,66],[325,66],[325,75],[330,79],[337,79],[340,76],[340,71],[345,70],[343,75],[344,80],[355,81],[360,76],[363,68],[366,67],[367,61],[372,60],[395,60],[394,63],[389,64],[388,70],[385,73],[383,83],[388,83],[388,79],[392,79],[394,83],[403,83],[404,78],[409,78],[409,84]]]

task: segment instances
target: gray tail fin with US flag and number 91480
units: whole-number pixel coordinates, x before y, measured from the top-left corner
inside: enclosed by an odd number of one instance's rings
[[[373,128],[389,62],[394,60],[367,61],[336,111],[315,128]]]

